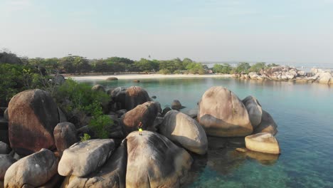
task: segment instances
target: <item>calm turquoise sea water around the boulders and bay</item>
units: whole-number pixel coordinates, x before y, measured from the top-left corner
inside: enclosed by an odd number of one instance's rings
[[[333,87],[232,78],[164,78],[85,81],[107,88],[139,85],[156,95],[162,108],[178,99],[195,108],[201,95],[222,85],[240,99],[254,95],[277,122],[281,155],[236,152],[235,147],[194,156],[184,187],[333,187]]]

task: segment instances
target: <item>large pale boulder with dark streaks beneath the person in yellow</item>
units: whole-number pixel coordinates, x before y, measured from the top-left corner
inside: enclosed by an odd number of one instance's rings
[[[179,187],[193,162],[191,155],[156,132],[127,136],[126,187]]]

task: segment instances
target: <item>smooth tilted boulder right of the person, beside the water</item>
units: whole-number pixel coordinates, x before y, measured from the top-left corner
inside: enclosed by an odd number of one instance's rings
[[[205,130],[196,120],[171,110],[164,116],[162,125],[159,126],[162,135],[173,142],[179,143],[186,150],[203,155],[207,152],[208,142]]]

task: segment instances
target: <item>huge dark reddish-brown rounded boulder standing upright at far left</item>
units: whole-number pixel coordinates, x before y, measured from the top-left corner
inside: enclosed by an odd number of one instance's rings
[[[9,141],[18,155],[42,148],[56,148],[53,130],[59,122],[58,108],[44,90],[25,90],[9,102]]]

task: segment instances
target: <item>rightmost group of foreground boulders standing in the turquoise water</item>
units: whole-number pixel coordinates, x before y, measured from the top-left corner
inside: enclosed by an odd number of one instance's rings
[[[268,140],[261,140],[261,144],[265,146],[260,150],[250,146],[253,142],[247,142],[258,134],[267,133],[274,137],[277,133],[277,125],[273,117],[262,109],[258,100],[253,96],[240,100],[227,88],[218,86],[210,88],[203,94],[199,102],[197,118],[208,136],[246,136],[245,145],[249,150],[272,153],[270,145],[265,145]],[[260,144],[257,142],[255,145]],[[278,142],[275,142],[275,147],[280,148]],[[280,149],[279,152],[274,152],[274,154],[277,153],[280,153]]]

